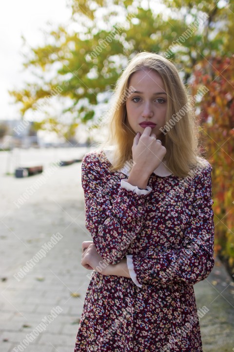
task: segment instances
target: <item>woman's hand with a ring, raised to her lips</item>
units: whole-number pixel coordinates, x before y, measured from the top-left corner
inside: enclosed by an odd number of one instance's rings
[[[151,127],[146,127],[142,134],[137,132],[132,152],[135,170],[148,178],[159,166],[166,154],[166,148],[156,139],[156,134],[151,133]]]

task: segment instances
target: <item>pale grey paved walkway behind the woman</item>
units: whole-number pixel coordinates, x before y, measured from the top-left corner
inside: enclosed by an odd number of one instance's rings
[[[40,177],[0,177],[1,352],[73,352],[90,281],[80,264],[90,240],[80,163],[54,170],[35,191]],[[209,309],[200,319],[204,352],[234,351],[234,283],[219,261],[195,293]]]

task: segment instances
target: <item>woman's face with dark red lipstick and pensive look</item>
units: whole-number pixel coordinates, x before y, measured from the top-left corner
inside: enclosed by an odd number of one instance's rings
[[[167,111],[167,94],[160,75],[154,70],[142,69],[132,75],[129,87],[134,92],[126,100],[128,125],[135,133],[142,133],[150,126],[158,138]]]

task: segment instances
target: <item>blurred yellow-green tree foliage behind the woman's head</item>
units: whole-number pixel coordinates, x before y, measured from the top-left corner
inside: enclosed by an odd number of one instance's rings
[[[35,82],[10,91],[22,118],[35,116],[40,129],[73,136],[80,123],[95,124],[139,51],[172,59],[187,82],[201,58],[233,50],[234,10],[225,0],[71,0],[68,6],[69,26],[47,30],[43,46],[25,44],[24,67]],[[50,108],[53,101],[60,110]]]

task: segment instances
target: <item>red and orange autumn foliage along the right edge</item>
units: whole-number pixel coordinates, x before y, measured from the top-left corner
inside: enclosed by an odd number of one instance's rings
[[[234,274],[234,57],[206,58],[193,76],[192,93],[208,88],[198,116],[204,156],[213,167],[215,249]]]

